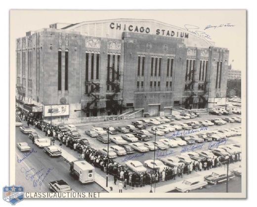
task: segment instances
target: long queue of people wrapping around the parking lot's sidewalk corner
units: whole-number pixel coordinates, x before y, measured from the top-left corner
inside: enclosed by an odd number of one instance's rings
[[[93,149],[89,145],[81,144],[77,139],[73,139],[68,135],[66,131],[62,131],[58,126],[44,122],[42,119],[33,117],[29,112],[16,107],[16,120],[23,120],[29,125],[34,125],[40,130],[45,132],[45,136],[49,136],[52,139],[54,145],[55,140],[59,140],[60,146],[62,144],[66,147],[70,147],[80,153],[80,159],[86,160],[95,167],[99,167],[102,171],[114,176],[114,184],[117,180],[122,182],[123,189],[127,189],[127,186],[142,187],[145,185],[165,182],[168,180],[175,180],[176,176],[183,177],[183,174],[190,174],[192,171],[209,170],[215,167],[221,167],[224,161],[234,163],[241,160],[241,153],[232,154],[226,157],[213,157],[213,159],[204,159],[201,161],[194,161],[191,163],[181,163],[178,166],[165,167],[164,169],[148,170],[143,173],[136,173],[129,169],[129,167],[117,163],[112,159],[108,159],[107,156],[100,154],[97,150]],[[121,186],[119,182],[119,188]]]

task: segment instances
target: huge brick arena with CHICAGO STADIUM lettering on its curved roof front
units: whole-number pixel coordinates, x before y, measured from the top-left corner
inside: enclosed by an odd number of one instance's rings
[[[56,23],[16,42],[17,97],[53,122],[225,103],[229,51],[162,22]]]

